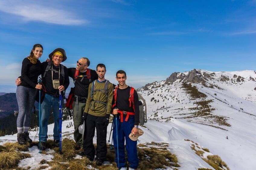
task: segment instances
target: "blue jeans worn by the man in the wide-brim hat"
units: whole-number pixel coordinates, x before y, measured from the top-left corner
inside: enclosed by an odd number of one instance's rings
[[[62,107],[63,107],[62,99]],[[45,94],[43,103],[41,105],[41,126],[39,137],[42,142],[46,142],[48,135],[48,120],[51,114],[51,107],[53,108],[54,117],[54,128],[53,128],[53,139],[59,140],[59,97],[54,97],[54,95]]]

